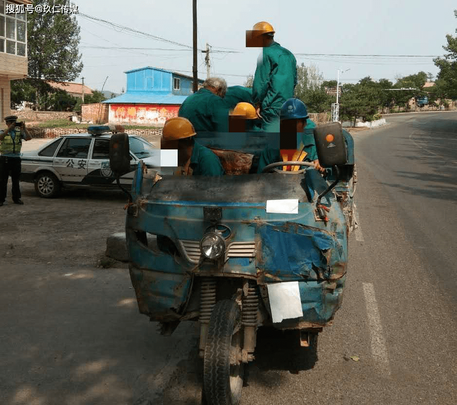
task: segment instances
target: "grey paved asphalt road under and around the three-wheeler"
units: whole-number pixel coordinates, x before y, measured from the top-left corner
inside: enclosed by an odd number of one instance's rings
[[[457,403],[457,113],[387,121],[354,135],[360,228],[316,365],[262,332],[242,405]],[[161,337],[125,270],[0,271],[1,404],[200,403],[198,330]]]

